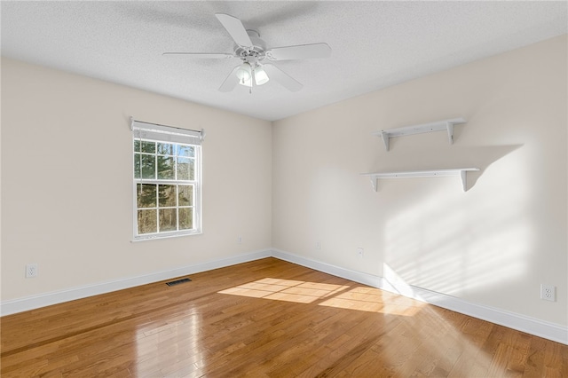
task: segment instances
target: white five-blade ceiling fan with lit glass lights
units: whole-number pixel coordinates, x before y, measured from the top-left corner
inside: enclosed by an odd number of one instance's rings
[[[303,85],[279,67],[268,63],[275,60],[328,58],[331,48],[327,43],[298,44],[277,48],[266,48],[266,44],[256,30],[247,30],[241,20],[225,13],[216,13],[217,20],[229,32],[235,43],[233,53],[225,52],[164,52],[162,55],[187,55],[205,59],[241,59],[241,64],[233,68],[219,91],[233,91],[237,84],[252,91],[253,83],[263,85],[269,80],[280,83],[289,91],[300,91]]]

